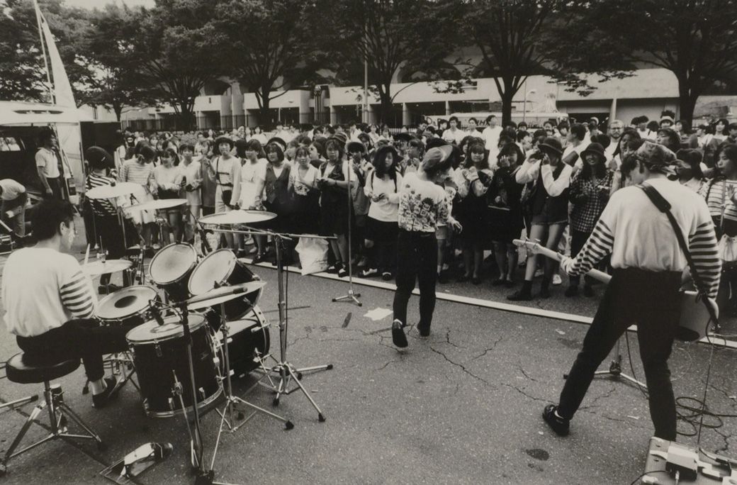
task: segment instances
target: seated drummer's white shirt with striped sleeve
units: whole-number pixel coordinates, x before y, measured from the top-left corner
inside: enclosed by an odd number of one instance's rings
[[[72,318],[90,318],[97,310],[92,282],[70,254],[18,249],[8,257],[2,278],[5,325],[13,335],[41,335]]]

